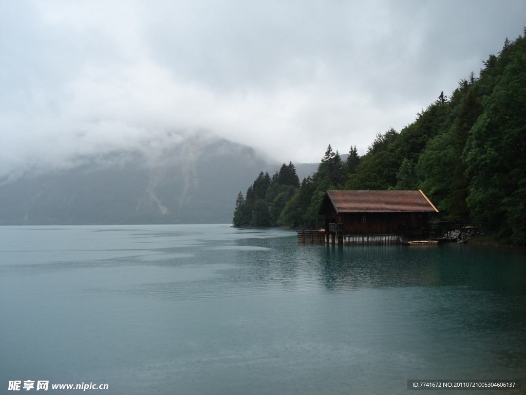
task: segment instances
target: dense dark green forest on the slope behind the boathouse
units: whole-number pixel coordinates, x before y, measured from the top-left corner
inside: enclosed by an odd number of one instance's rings
[[[379,133],[343,161],[329,145],[301,183],[294,165],[259,174],[236,201],[235,226],[315,227],[328,189],[421,189],[437,219],[469,220],[495,239],[526,244],[526,28],[400,132]]]

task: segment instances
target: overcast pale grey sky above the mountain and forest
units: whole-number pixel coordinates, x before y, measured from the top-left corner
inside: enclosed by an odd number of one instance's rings
[[[0,173],[196,131],[363,154],[524,25],[523,0],[0,1]]]

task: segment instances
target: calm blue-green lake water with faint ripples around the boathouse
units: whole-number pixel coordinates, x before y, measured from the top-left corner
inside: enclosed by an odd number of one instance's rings
[[[49,380],[45,393],[107,383],[87,393],[108,395],[526,387],[524,249],[301,245],[293,231],[229,225],[3,226],[0,314],[0,393],[15,393],[9,380]]]

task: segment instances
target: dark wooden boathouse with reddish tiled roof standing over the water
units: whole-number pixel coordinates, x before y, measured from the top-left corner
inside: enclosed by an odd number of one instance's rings
[[[429,240],[429,215],[437,208],[421,191],[327,191],[325,242],[398,244]]]

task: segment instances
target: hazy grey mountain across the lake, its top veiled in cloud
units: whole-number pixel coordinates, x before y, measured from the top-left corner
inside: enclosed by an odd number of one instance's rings
[[[176,137],[155,150],[79,156],[68,167],[4,177],[0,224],[230,223],[238,192],[280,166],[206,133]],[[316,166],[299,164],[299,175]]]

